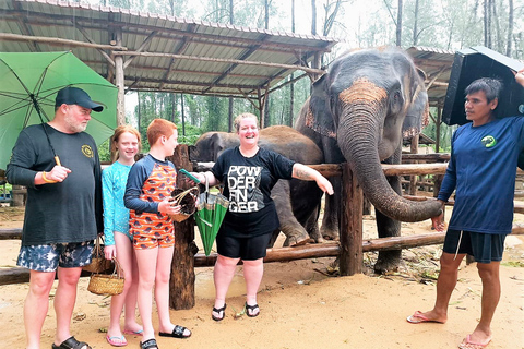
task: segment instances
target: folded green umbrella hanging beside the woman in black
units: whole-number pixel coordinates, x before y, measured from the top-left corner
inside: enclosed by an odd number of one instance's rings
[[[229,201],[222,194],[211,194],[206,182],[205,192],[200,194],[199,205],[194,214],[200,237],[204,244],[205,255],[210,255],[211,253],[211,248],[213,246],[213,242],[215,241],[228,207]]]

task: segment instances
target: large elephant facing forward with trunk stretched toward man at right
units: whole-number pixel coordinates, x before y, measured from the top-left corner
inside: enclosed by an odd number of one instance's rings
[[[400,221],[420,221],[441,213],[437,201],[402,197],[398,177],[385,177],[382,164],[400,164],[402,140],[420,132],[429,113],[424,80],[401,49],[366,49],[335,59],[312,85],[295,129],[323,152],[326,164],[348,163],[364,195],[373,204],[379,238],[397,237]],[[321,233],[338,236],[341,180],[326,197]],[[330,200],[332,198],[332,200]],[[376,273],[396,269],[401,252],[382,251]]]

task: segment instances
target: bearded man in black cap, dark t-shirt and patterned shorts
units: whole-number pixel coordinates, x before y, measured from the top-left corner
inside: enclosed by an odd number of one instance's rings
[[[40,347],[57,269],[52,348],[91,348],[71,336],[70,323],[82,266],[91,263],[93,240],[104,230],[100,163],[95,141],[84,132],[91,112],[103,109],[81,88],[60,89],[52,121],[22,130],[8,165],[8,181],[27,186],[16,263],[31,270],[24,305],[27,349]]]

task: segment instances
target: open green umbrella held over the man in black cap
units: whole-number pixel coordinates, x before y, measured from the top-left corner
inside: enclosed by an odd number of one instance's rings
[[[82,88],[104,105],[104,111],[92,113],[86,129],[96,144],[117,127],[117,87],[71,52],[0,52],[0,81],[1,169],[22,129],[52,120],[55,98],[63,87]]]

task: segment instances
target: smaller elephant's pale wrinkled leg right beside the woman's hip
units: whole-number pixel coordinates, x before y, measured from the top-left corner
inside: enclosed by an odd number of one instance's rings
[[[286,236],[284,245],[296,246],[311,242],[306,229],[293,215],[289,181],[279,180],[271,191],[281,221],[281,231]]]

